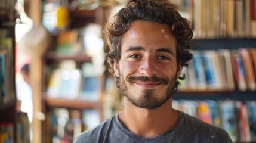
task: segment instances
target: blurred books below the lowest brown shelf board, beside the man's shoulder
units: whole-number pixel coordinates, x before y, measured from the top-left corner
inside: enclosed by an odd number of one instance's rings
[[[73,142],[81,132],[100,124],[100,114],[91,109],[54,108],[46,116],[46,142]]]

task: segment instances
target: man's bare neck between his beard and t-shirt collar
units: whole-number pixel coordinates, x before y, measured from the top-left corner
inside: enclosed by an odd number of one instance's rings
[[[126,98],[124,103],[119,120],[137,136],[153,138],[174,128],[177,123],[178,111],[171,107],[171,99],[156,110],[135,107]]]

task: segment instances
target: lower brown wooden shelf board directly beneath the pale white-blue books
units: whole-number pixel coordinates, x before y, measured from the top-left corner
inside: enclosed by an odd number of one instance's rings
[[[73,109],[98,109],[100,102],[98,101],[85,101],[81,99],[69,100],[64,98],[46,98],[45,103],[47,107],[62,107],[62,108],[73,108]]]

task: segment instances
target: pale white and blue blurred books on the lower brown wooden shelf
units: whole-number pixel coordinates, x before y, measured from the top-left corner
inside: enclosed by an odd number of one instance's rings
[[[70,66],[73,63],[73,66]],[[50,98],[67,98],[98,101],[101,90],[101,78],[98,76],[94,64],[83,63],[81,69],[74,66],[75,61],[62,61],[64,67],[54,69],[47,86]]]

